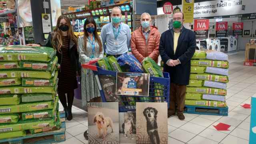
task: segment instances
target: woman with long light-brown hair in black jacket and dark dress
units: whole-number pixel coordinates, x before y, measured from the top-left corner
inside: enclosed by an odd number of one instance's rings
[[[78,88],[76,75],[81,70],[77,43],[78,39],[74,35],[69,18],[62,15],[57,20],[54,32],[49,34],[46,44],[43,45],[52,47],[57,51],[58,63],[60,64],[60,70],[58,72],[58,95],[65,110],[67,120],[72,120],[74,89]],[[37,45],[31,44],[31,46]]]

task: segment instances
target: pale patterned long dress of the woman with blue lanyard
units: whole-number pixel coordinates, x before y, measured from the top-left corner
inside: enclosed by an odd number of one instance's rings
[[[102,39],[100,37],[102,42]],[[96,41],[96,40],[95,40]],[[78,48],[79,48],[79,61],[81,64],[85,64],[90,60],[94,60],[96,58],[103,58],[104,50],[102,47],[102,52],[99,53],[99,44],[95,42],[95,56],[92,56],[92,44],[87,39],[86,42],[86,51],[84,50],[84,36],[80,36],[78,39]],[[100,97],[100,91],[92,70],[82,69],[81,72],[81,91],[82,91],[82,106],[86,106],[87,102],[89,102],[93,98]]]

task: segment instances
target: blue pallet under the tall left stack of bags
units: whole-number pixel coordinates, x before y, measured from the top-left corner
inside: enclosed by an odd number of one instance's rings
[[[65,113],[60,112],[62,125],[59,130],[43,132],[40,134],[27,134],[23,137],[8,138],[0,140],[0,144],[51,144],[54,142],[63,142],[66,140],[65,131]]]

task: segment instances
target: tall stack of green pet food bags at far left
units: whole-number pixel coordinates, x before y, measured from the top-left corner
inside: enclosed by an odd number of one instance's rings
[[[0,139],[60,128],[57,62],[52,48],[0,48]]]

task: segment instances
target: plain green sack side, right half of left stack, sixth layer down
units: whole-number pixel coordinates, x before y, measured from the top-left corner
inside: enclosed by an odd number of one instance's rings
[[[50,101],[54,100],[56,94],[48,93],[33,93],[33,94],[22,94],[22,102],[41,102],[41,101]]]

